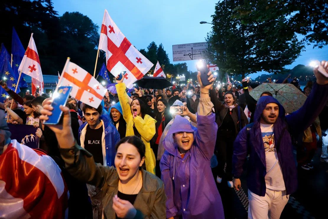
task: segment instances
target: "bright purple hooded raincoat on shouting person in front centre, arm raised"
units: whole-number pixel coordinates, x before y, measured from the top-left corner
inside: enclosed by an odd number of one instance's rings
[[[166,151],[160,168],[167,197],[167,218],[224,218],[210,162],[217,132],[215,114],[197,115],[197,126],[198,129],[187,119],[176,116],[167,134],[194,132],[194,143],[183,158],[176,143],[167,138],[163,142]]]

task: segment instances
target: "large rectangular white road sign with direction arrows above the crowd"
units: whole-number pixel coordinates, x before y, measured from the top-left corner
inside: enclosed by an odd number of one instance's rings
[[[207,42],[173,45],[173,61],[206,59]]]

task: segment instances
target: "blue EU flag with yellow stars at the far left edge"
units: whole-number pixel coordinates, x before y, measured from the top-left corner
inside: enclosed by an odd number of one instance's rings
[[[15,90],[17,86],[17,79],[15,77],[15,74],[10,66],[10,55],[3,45],[1,44],[1,50],[0,50],[0,79],[1,80],[7,80],[8,88],[11,90]],[[19,93],[20,89],[17,87],[16,93]],[[6,96],[8,96],[8,93],[0,87],[0,101],[3,102],[6,99]]]

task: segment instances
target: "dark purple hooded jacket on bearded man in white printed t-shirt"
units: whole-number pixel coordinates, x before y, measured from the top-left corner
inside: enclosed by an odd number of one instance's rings
[[[232,172],[234,177],[240,178],[247,152],[249,152],[250,157],[247,178],[248,189],[256,195],[265,196],[266,185],[264,177],[266,175],[266,162],[259,120],[266,104],[277,103],[279,106],[279,115],[277,121],[273,125],[275,132],[275,147],[277,149],[279,164],[282,169],[286,194],[289,195],[295,192],[297,189],[297,169],[293,156],[293,145],[290,134],[297,137],[304,132],[304,130],[318,117],[327,101],[328,84],[318,85],[315,83],[303,106],[297,111],[285,116],[285,110],[277,99],[270,96],[261,97],[257,101],[254,113],[254,123],[246,125],[238,133],[234,142],[232,162]]]

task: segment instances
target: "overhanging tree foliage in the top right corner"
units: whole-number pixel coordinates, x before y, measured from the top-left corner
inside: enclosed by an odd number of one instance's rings
[[[261,19],[263,14],[282,16],[289,31],[303,35],[304,42],[314,47],[328,45],[328,2],[326,0],[260,0],[244,1],[236,8],[243,23]]]

